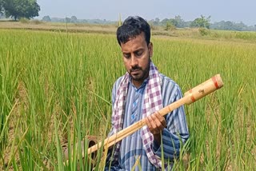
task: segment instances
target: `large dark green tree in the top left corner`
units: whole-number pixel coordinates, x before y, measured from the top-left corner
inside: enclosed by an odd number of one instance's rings
[[[2,0],[3,10],[6,17],[12,17],[14,20],[19,18],[34,18],[38,16],[40,6],[36,0]]]

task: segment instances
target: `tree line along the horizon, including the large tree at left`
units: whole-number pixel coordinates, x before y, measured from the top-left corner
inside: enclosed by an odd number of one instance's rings
[[[0,0],[0,18],[1,14],[5,14],[6,18],[34,18],[38,16],[40,6],[37,0]],[[73,22],[73,23],[93,23],[93,24],[114,24],[113,21],[106,21],[101,19],[78,19],[75,16],[71,18],[50,18],[49,15],[44,16],[42,21],[45,22]],[[221,21],[210,23],[210,16],[201,15],[193,21],[184,21],[181,16],[177,15],[174,18],[164,18],[162,21],[159,18],[148,21],[151,26],[164,26],[165,30],[172,30],[175,28],[207,28],[214,30],[238,30],[238,31],[256,31],[256,24],[254,26],[246,26],[243,22]]]

